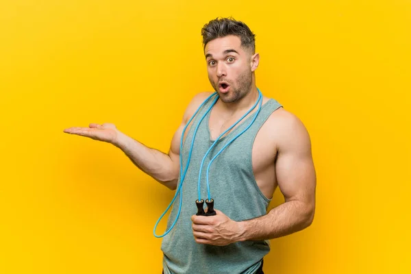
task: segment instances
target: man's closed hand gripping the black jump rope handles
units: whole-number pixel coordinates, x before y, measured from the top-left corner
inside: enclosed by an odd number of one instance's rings
[[[229,245],[241,235],[239,223],[229,219],[220,210],[214,216],[191,216],[192,234],[195,241],[208,245]]]

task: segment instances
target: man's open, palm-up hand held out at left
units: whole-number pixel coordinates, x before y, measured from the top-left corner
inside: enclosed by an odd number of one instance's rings
[[[111,123],[103,123],[103,125],[91,123],[89,127],[69,127],[64,129],[63,132],[86,136],[103,142],[114,142],[119,135],[119,130]]]

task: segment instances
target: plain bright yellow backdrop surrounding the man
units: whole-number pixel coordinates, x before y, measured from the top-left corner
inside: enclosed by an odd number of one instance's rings
[[[312,138],[314,223],[272,240],[265,272],[411,273],[407,0],[1,1],[0,273],[161,273],[173,192],[62,131],[114,123],[168,151],[212,90],[200,30],[217,16],[255,32],[258,87]]]

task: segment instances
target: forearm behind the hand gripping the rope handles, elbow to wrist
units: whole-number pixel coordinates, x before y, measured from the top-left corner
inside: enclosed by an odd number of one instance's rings
[[[239,222],[239,240],[267,240],[298,232],[312,223],[314,212],[293,200],[273,208],[256,219]]]

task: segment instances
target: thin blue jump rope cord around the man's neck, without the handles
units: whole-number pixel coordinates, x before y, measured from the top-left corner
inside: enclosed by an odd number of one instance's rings
[[[258,89],[258,88],[257,88],[257,89]],[[254,108],[256,108],[257,103],[258,103],[258,102],[260,101],[260,99],[262,98],[260,89],[258,89],[258,92],[259,92],[258,101],[253,105],[253,108],[251,108],[251,110],[253,110]],[[181,140],[180,140],[180,157],[179,157],[179,158],[180,158],[180,174],[182,175],[182,177],[181,177],[181,179],[180,179],[180,184],[179,184],[179,186],[178,186],[178,188],[177,188],[177,191],[175,192],[175,195],[174,195],[173,199],[171,200],[171,203],[170,203],[169,206],[166,208],[166,210],[164,211],[164,213],[160,216],[160,218],[158,219],[157,223],[155,223],[155,226],[154,226],[154,229],[153,229],[153,234],[154,234],[154,236],[155,236],[156,238],[161,238],[161,237],[164,237],[164,236],[166,236],[167,234],[169,234],[169,232],[171,231],[171,229],[173,229],[173,227],[174,227],[175,224],[177,223],[177,220],[178,220],[178,218],[179,218],[179,214],[180,214],[180,212],[181,212],[181,210],[182,210],[182,198],[183,198],[183,197],[182,197],[182,192],[180,193],[180,190],[182,190],[184,178],[186,177],[186,173],[187,173],[187,170],[188,170],[188,166],[190,165],[190,158],[191,158],[191,153],[192,153],[192,147],[193,147],[193,145],[194,145],[195,135],[197,134],[197,130],[198,130],[198,128],[199,128],[199,125],[201,124],[201,121],[203,121],[204,117],[206,117],[206,115],[208,114],[208,112],[210,112],[210,110],[212,109],[212,107],[214,106],[214,104],[216,103],[216,101],[219,99],[219,96],[217,96],[216,99],[214,99],[214,101],[213,101],[212,104],[210,105],[210,108],[208,108],[208,110],[206,111],[206,113],[201,117],[201,119],[200,119],[197,127],[195,128],[195,132],[194,132],[194,134],[193,134],[193,136],[192,136],[192,142],[191,142],[191,146],[190,146],[190,152],[188,153],[188,160],[187,160],[186,169],[184,170],[184,173],[183,173],[183,169],[182,169],[182,149],[183,149],[183,138],[184,138],[184,133],[186,132],[186,128],[187,128],[188,125],[191,123],[192,119],[195,118],[197,112],[199,112],[199,110],[201,109],[201,107],[202,107],[208,100],[210,100],[214,95],[216,95],[216,93],[217,93],[217,92],[214,92],[214,93],[213,93],[212,95],[210,95],[205,101],[203,101],[203,103],[201,103],[201,105],[199,106],[199,108],[197,109],[197,111],[195,112],[195,114],[192,115],[191,119],[188,121],[187,125],[186,125],[186,126],[184,127],[184,129],[183,129],[182,138],[181,138]],[[262,100],[261,100],[261,102],[262,102]],[[242,132],[240,132],[240,134],[238,134],[236,137],[234,137],[233,140],[231,140],[230,142],[228,142],[228,143],[223,147],[223,149],[225,149],[225,147],[227,147],[227,145],[229,145],[229,144],[230,144],[231,142],[233,142],[236,138],[238,138],[238,136],[240,136],[242,133],[244,133],[244,132],[253,124],[253,122],[256,120],[256,117],[257,117],[257,115],[258,115],[258,112],[260,112],[261,102],[260,102],[260,106],[259,106],[259,108],[258,108],[258,111],[257,111],[257,113],[256,113],[256,116],[254,116],[254,119],[253,119],[253,121],[250,123],[250,125],[249,125],[246,129],[244,129]],[[240,120],[238,120],[234,125],[232,125],[232,127],[234,127],[234,126],[235,126],[237,123],[239,123],[245,116],[247,116],[247,114],[249,114],[249,112],[251,112],[251,110],[249,110],[244,116],[242,116],[242,117],[240,118]],[[229,129],[232,129],[232,127],[229,127]],[[225,132],[228,132],[229,129],[227,129]],[[221,135],[219,136],[219,138],[221,138],[221,136],[223,136],[223,135],[225,134],[225,132],[223,132],[223,134],[221,134]],[[216,144],[216,142],[217,142],[217,140],[219,140],[219,138],[217,138],[217,139],[214,141],[214,144],[212,145],[212,147]],[[210,147],[210,149],[211,149],[211,147]],[[210,149],[208,149],[206,155],[208,154],[208,152],[210,151]],[[223,149],[221,149],[221,151],[223,151]],[[219,151],[219,153],[221,153],[221,151]],[[210,161],[210,164],[212,163],[212,161],[214,161],[214,159],[216,158],[216,156],[219,155],[219,153],[217,153],[217,154],[214,156],[214,158],[212,158],[212,160]],[[203,158],[203,161],[204,161],[205,158],[206,158],[206,156]],[[209,201],[210,201],[210,186],[209,186],[209,182],[208,182],[208,170],[210,169],[210,164],[208,165],[208,169],[207,169],[207,190],[208,190],[208,199],[209,199]],[[202,166],[203,166],[203,162],[201,162],[201,168],[202,168]],[[201,169],[200,169],[200,174],[201,174]],[[200,187],[199,187],[199,189],[200,189]],[[175,217],[175,220],[174,220],[173,224],[171,225],[171,227],[169,227],[169,229],[166,230],[166,232],[164,232],[164,234],[162,234],[162,235],[157,235],[157,234],[155,234],[155,230],[157,229],[158,223],[160,223],[162,217],[166,214],[166,212],[169,211],[169,209],[171,208],[171,205],[174,203],[175,199],[177,198],[177,195],[179,195],[179,194],[180,194],[180,197],[179,197],[179,198],[180,198],[180,199],[179,199],[179,202],[180,202],[180,203],[179,203],[179,209],[178,209],[178,213],[177,213],[177,216]],[[200,199],[201,199],[201,195],[200,195],[200,191],[199,191],[199,200],[200,200]]]

